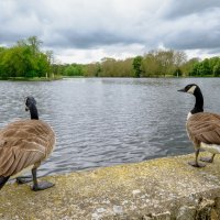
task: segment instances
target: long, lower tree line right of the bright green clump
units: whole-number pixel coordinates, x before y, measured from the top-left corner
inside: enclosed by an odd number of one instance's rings
[[[220,57],[187,59],[185,52],[154,50],[123,61],[107,57],[86,65],[55,64],[53,73],[84,77],[218,77]]]

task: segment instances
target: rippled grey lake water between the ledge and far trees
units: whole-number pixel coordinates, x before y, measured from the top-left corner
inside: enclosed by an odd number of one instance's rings
[[[195,98],[177,92],[189,82],[200,86],[205,110],[220,113],[220,78],[0,81],[0,128],[30,118],[24,97],[35,97],[57,136],[41,176],[193,153],[185,123]]]

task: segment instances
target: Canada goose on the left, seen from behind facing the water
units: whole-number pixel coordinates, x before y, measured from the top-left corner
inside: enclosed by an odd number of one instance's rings
[[[30,169],[33,190],[54,186],[47,182],[38,183],[36,169],[52,153],[55,133],[47,123],[38,120],[36,101],[33,97],[26,98],[25,110],[30,110],[31,120],[15,121],[0,130],[0,189],[10,177],[18,177]]]

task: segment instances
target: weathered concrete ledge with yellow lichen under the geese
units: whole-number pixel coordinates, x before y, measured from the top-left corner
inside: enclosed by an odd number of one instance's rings
[[[44,177],[55,187],[34,193],[9,184],[0,219],[220,219],[220,156],[194,168],[194,155]]]

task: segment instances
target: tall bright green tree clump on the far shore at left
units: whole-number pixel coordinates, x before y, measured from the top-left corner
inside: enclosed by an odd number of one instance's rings
[[[41,44],[36,36],[31,36],[10,48],[0,48],[0,76],[42,77],[51,73],[50,56],[41,52]]]

